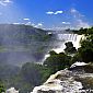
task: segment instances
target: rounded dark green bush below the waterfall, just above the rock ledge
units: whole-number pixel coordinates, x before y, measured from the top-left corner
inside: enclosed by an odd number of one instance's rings
[[[58,70],[62,70],[70,66],[70,56],[67,56],[65,53],[50,55],[45,61],[44,66],[49,68],[53,73],[55,73]]]

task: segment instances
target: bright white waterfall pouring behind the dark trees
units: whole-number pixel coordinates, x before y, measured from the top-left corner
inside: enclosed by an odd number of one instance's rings
[[[56,53],[61,53],[66,48],[65,43],[72,42],[73,46],[78,49],[80,47],[80,40],[83,35],[78,34],[57,34],[57,39],[60,40],[61,44],[57,48],[54,48]]]

